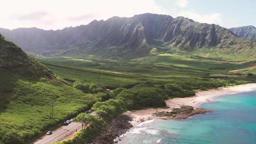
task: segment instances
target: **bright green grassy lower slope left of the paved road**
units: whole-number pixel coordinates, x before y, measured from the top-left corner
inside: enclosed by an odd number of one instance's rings
[[[58,79],[25,78],[2,72],[0,77],[1,98],[5,100],[0,108],[0,141],[4,144],[32,140],[100,100]],[[56,99],[53,119],[49,118],[51,99]]]

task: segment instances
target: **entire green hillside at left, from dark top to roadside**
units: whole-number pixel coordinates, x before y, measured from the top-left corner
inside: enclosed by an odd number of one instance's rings
[[[50,119],[50,100],[55,99]],[[24,144],[99,98],[73,88],[0,36],[0,144]]]

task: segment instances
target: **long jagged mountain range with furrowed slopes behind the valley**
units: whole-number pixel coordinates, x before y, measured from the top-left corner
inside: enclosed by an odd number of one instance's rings
[[[88,25],[62,30],[1,28],[0,33],[26,52],[45,56],[93,54],[133,58],[150,54],[152,50],[201,48],[215,48],[227,54],[247,52],[253,56],[255,52],[251,49],[256,48],[255,39],[241,38],[233,29],[150,13],[93,20]]]

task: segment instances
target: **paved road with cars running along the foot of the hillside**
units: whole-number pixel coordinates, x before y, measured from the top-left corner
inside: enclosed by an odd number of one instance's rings
[[[66,137],[72,135],[75,130],[81,128],[81,124],[72,122],[68,126],[61,126],[60,128],[53,131],[52,135],[45,135],[38,139],[34,144],[52,144],[57,141],[61,141]]]

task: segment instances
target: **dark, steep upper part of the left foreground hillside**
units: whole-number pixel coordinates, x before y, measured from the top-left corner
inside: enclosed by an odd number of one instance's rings
[[[46,67],[25,54],[21,48],[0,35],[0,72],[52,78]]]

